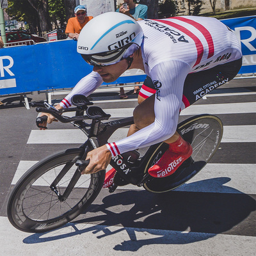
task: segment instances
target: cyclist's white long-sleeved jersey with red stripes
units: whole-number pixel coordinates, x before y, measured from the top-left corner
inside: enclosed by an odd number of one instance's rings
[[[156,119],[131,136],[107,144],[112,156],[170,138],[177,128],[186,76],[242,56],[234,33],[214,18],[173,17],[141,20],[139,24],[145,35],[141,47],[145,73],[156,87]],[[102,82],[97,72],[90,73],[62,100],[61,106],[70,106],[74,94],[90,95]]]

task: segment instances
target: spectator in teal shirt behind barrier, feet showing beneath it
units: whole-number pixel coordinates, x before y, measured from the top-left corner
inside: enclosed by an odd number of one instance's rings
[[[116,10],[116,12],[124,13],[131,17],[134,20],[143,20],[147,19],[148,6],[145,4],[134,3],[133,0],[124,0],[124,3],[127,4],[127,8],[124,7],[124,4]],[[135,84],[140,84],[136,82]],[[122,84],[120,84],[122,85]],[[137,85],[134,87],[134,92],[132,94],[139,94],[140,87]],[[120,99],[127,99],[127,95],[124,93],[124,87],[120,87]]]

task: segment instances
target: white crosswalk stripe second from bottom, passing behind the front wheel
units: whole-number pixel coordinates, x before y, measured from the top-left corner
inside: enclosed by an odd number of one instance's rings
[[[20,161],[15,173],[12,184],[20,179],[20,177],[37,161]],[[255,188],[255,170],[256,164],[207,164],[204,172],[198,173],[193,179],[189,180],[187,184],[177,188],[177,191],[191,191],[191,192],[211,192],[211,193],[246,193],[256,194]],[[240,179],[243,173],[243,180]],[[221,184],[221,178],[228,177],[227,183],[224,186]],[[216,180],[212,180],[216,179]],[[204,180],[204,182],[200,182]],[[44,180],[38,183],[38,186],[47,186]],[[86,188],[86,184],[80,186]],[[124,186],[123,189],[143,189],[134,186]]]

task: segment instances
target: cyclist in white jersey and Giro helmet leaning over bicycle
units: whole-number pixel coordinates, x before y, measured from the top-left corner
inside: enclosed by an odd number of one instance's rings
[[[180,110],[233,79],[242,63],[234,33],[209,17],[136,22],[122,13],[104,13],[84,26],[77,52],[94,66],[93,71],[77,83],[58,109],[68,108],[72,95],[88,96],[103,81],[115,81],[128,68],[140,68],[152,79],[150,86],[146,83],[141,88],[141,103],[134,109],[134,125],[127,138],[89,152],[90,164],[82,173],[106,169],[111,157],[161,141],[169,144],[169,150],[148,172],[153,177],[174,173],[192,154],[191,145],[176,132]],[[48,114],[47,122],[53,119]],[[109,172],[111,179],[115,170]]]

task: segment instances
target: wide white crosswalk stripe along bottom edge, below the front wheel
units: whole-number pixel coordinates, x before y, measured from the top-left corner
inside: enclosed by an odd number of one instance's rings
[[[62,253],[65,253],[65,255],[81,255],[82,252],[84,255],[93,254],[97,256],[102,255],[102,253],[114,256],[144,255],[144,253],[147,255],[166,256],[185,256],[188,254],[244,256],[254,255],[255,253],[252,246],[255,242],[254,237],[189,232],[189,226],[186,230],[180,232],[72,223],[68,227],[54,232],[40,236],[38,234],[28,236],[28,233],[15,230],[7,218],[0,217],[0,227],[4,230],[4,236],[0,237],[1,242],[4,244],[2,248],[5,248],[6,244],[15,244],[8,251],[12,251],[14,256],[20,255],[20,252],[26,252],[26,255],[29,256],[50,256],[53,251],[54,255],[57,256],[63,255]],[[76,236],[77,234],[79,236]],[[19,241],[24,242],[19,243]],[[61,246],[56,244],[61,244]],[[33,250],[29,250],[29,247],[32,247]],[[31,253],[28,253],[28,250]]]

